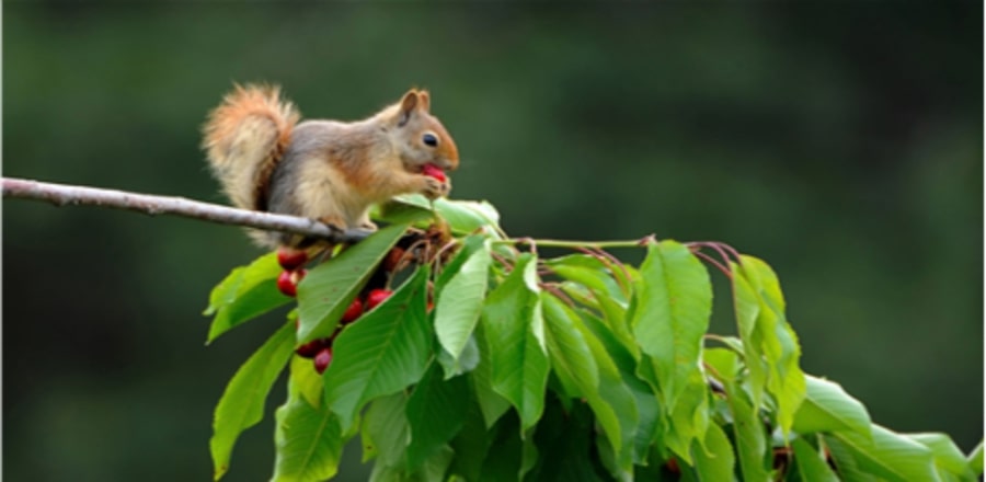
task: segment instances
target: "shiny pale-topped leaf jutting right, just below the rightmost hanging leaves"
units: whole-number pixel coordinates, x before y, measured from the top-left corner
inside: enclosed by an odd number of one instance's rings
[[[799,434],[852,431],[870,437],[870,414],[865,406],[833,381],[806,377],[804,402],[794,414]]]

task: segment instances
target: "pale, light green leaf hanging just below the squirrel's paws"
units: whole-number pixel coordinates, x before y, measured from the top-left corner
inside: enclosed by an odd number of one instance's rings
[[[489,241],[470,253],[462,266],[435,294],[435,333],[442,348],[458,360],[479,322],[486,296],[492,257]],[[454,375],[446,367],[446,377]]]

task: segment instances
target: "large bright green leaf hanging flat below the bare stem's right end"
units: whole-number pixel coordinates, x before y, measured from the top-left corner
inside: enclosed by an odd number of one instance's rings
[[[712,313],[712,285],[709,272],[688,248],[674,241],[647,245],[640,275],[631,326],[641,349],[653,360],[670,413],[688,380],[699,372],[702,335]]]

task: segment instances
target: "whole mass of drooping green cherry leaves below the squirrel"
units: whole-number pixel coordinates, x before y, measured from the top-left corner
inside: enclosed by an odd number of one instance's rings
[[[278,375],[275,481],[331,479],[362,439],[375,481],[965,481],[982,473],[943,434],[871,422],[802,371],[770,266],[721,243],[647,238],[637,266],[604,243],[509,239],[485,203],[403,198],[390,222],[313,267],[298,308],[233,376],[210,440],[215,478],[261,421]],[[409,230],[450,236],[386,273],[393,295],[334,338],[319,376],[294,351],[339,328]],[[572,248],[543,257],[539,246]],[[521,249],[526,248],[526,249]],[[703,264],[704,262],[704,264]],[[713,267],[738,336],[708,333]],[[290,302],[273,254],[213,291],[208,340]],[[429,309],[434,306],[434,309]],[[297,323],[297,324],[296,324]],[[295,328],[297,325],[297,329]]]

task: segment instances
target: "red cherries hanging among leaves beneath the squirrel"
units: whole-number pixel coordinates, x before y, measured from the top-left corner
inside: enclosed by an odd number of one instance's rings
[[[277,289],[285,296],[294,298],[298,294],[298,282],[300,282],[307,273],[302,266],[308,262],[308,253],[305,251],[280,249],[277,252],[277,262],[280,264],[280,267],[284,268],[284,272],[277,277]],[[346,308],[346,311],[339,322],[339,328],[332,336],[312,340],[299,346],[295,349],[295,353],[298,354],[298,356],[311,358],[314,363],[316,371],[318,371],[319,375],[323,374],[325,368],[329,368],[329,364],[332,362],[332,341],[335,340],[342,329],[356,321],[365,311],[372,310],[377,305],[380,305],[383,300],[390,298],[390,295],[392,294],[393,291],[389,289],[376,288],[370,289],[364,299],[357,297]],[[297,323],[298,322],[296,321],[296,326]]]

